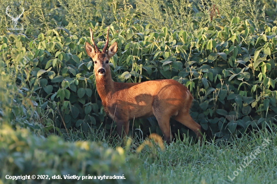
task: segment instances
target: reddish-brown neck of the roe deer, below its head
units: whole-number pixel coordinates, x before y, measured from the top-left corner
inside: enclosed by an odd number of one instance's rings
[[[96,76],[96,87],[101,100],[107,102],[114,91],[114,81],[112,81],[111,73]]]

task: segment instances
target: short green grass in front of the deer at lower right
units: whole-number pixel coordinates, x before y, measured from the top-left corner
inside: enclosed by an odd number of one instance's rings
[[[92,130],[87,134],[71,132],[67,140],[102,141],[107,146],[122,144],[116,138],[105,137],[103,132]],[[136,168],[140,183],[275,183],[277,181],[276,128],[253,131],[231,141],[206,141],[204,145],[194,139],[184,139],[166,145],[146,146],[136,153],[142,139],[137,136],[125,147],[136,163],[126,162]],[[256,154],[256,155],[255,155]],[[127,158],[128,158],[127,156]],[[230,178],[229,178],[229,177]]]

